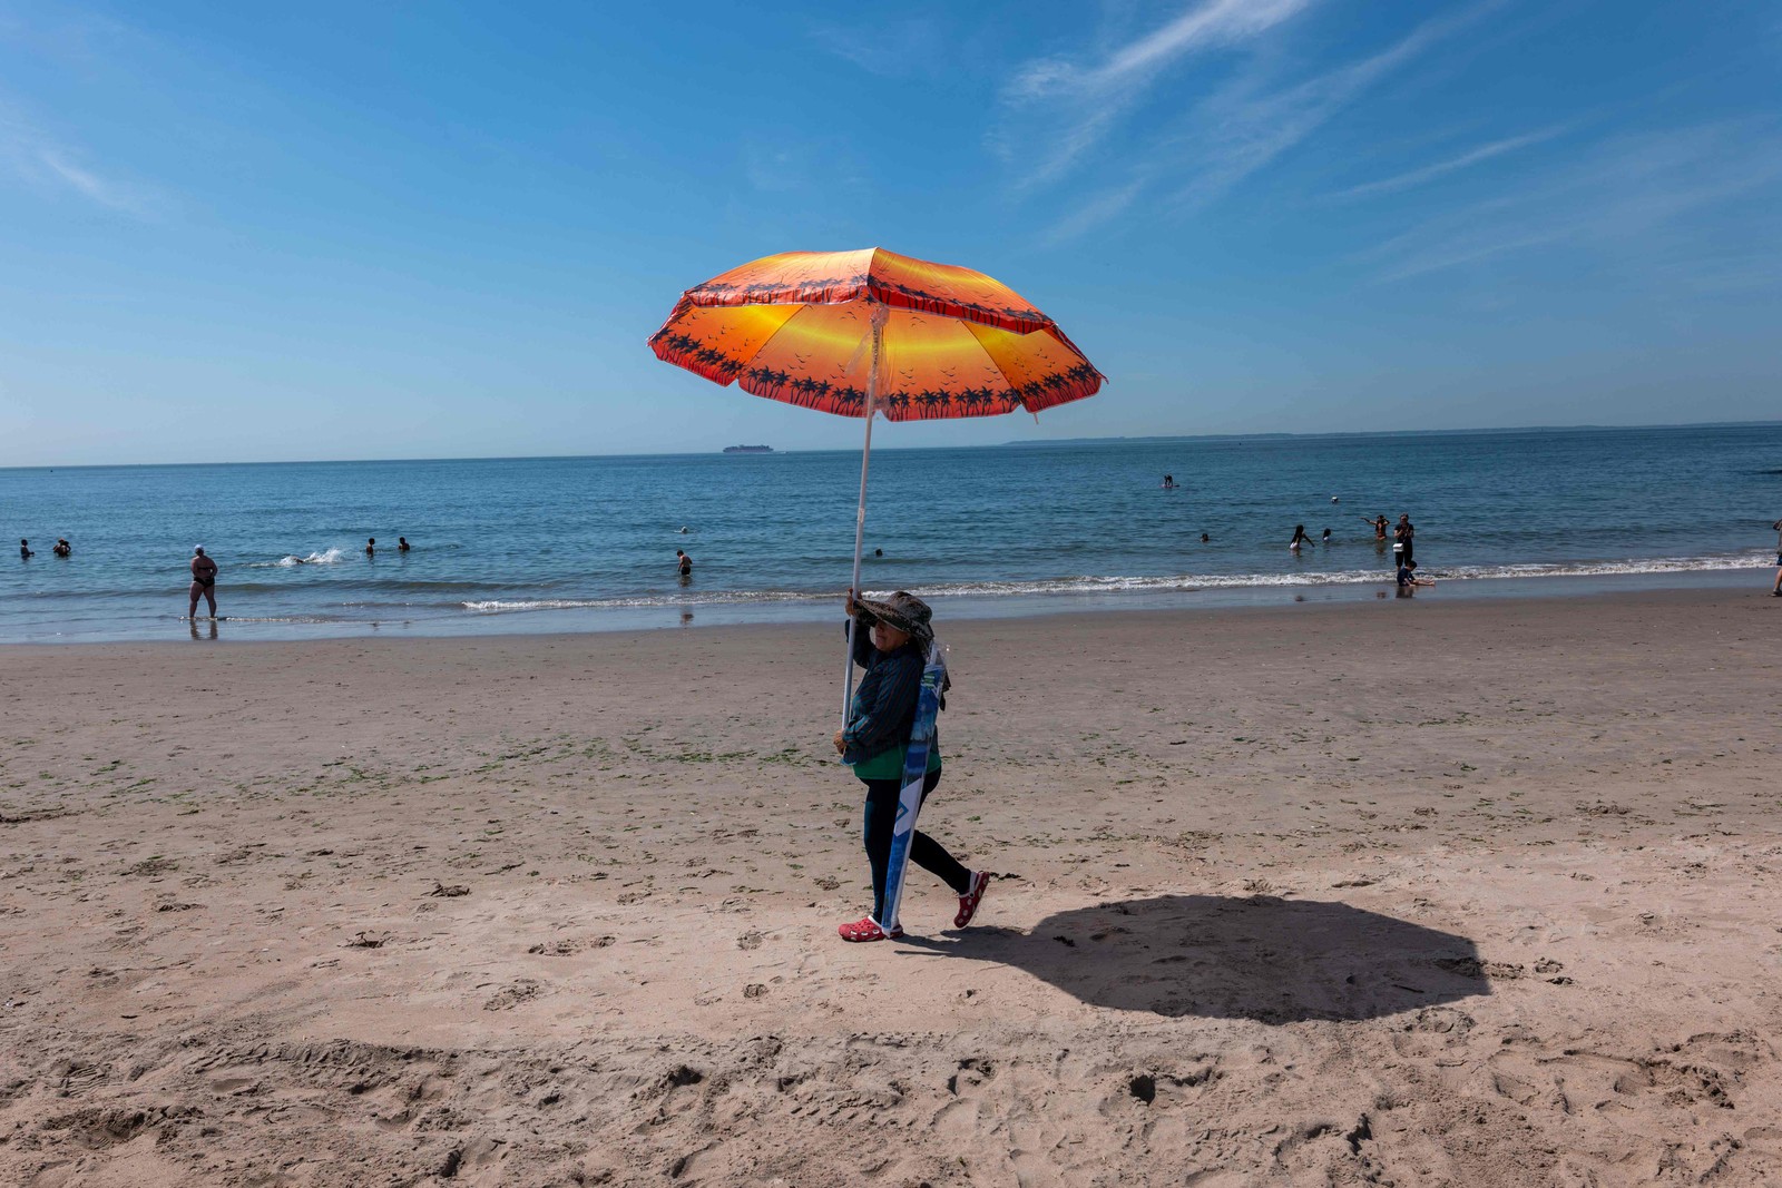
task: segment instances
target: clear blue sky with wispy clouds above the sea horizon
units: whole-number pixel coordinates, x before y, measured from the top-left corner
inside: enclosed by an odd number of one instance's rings
[[[0,465],[854,447],[643,340],[784,249],[1108,374],[880,445],[1782,415],[1782,5],[0,0]]]

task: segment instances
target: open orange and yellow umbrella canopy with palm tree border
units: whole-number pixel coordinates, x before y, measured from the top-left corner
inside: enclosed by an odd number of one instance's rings
[[[1059,324],[984,273],[861,251],[784,251],[688,289],[656,356],[745,392],[866,413],[873,305],[886,306],[875,408],[891,420],[1039,411],[1101,388]]]

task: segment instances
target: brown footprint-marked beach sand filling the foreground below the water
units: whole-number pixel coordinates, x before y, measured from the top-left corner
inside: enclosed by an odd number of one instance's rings
[[[4,1184],[1782,1181],[1782,602],[0,650]],[[225,623],[226,629],[226,623]]]

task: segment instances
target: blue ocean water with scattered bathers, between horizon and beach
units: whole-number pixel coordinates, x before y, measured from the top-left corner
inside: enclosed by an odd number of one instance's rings
[[[0,641],[185,638],[194,543],[221,638],[816,618],[857,488],[839,451],[0,470],[0,540],[37,550],[0,552]],[[1782,424],[880,449],[862,586],[943,614],[1372,598],[1361,518],[1404,511],[1440,597],[1762,586]],[[1333,540],[1294,554],[1296,524]]]

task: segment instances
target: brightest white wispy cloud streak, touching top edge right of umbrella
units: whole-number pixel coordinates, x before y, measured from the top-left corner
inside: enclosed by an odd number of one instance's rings
[[[1315,0],[1203,0],[1169,23],[1110,48],[1098,61],[1048,57],[1023,64],[1003,85],[1007,116],[993,134],[1005,159],[1021,155],[1023,139],[1007,126],[1035,118],[1042,128],[1032,139],[1021,189],[1053,182],[1096,148],[1155,85],[1183,59],[1212,48],[1235,46],[1265,34],[1312,7]]]

